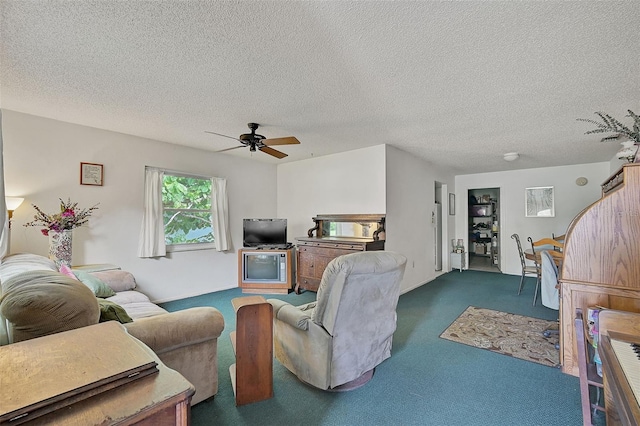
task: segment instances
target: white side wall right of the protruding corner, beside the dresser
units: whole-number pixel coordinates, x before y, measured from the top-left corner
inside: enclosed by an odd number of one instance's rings
[[[407,267],[402,282],[402,292],[405,293],[449,271],[447,241],[453,238],[455,216],[448,215],[448,200],[443,199],[443,265],[442,271],[436,271],[431,213],[436,200],[435,182],[446,184],[449,192],[453,192],[454,176],[391,146],[387,146],[386,170],[387,242],[385,249],[402,253],[407,257]]]

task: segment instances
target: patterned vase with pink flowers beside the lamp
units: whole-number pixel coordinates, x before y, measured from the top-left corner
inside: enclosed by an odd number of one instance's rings
[[[89,217],[98,205],[86,209],[78,208],[78,203],[72,203],[70,199],[63,201],[60,198],[60,211],[53,214],[44,213],[38,206],[31,222],[24,226],[41,226],[42,235],[49,237],[49,258],[59,267],[64,264],[71,266],[72,257],[72,231],[88,222]]]

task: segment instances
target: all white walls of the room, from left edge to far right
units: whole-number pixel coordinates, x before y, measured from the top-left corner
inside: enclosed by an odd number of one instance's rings
[[[47,254],[48,240],[31,220],[34,203],[45,212],[70,197],[80,207],[100,203],[88,226],[74,232],[74,264],[115,263],[130,270],[140,288],[156,301],[179,299],[237,286],[236,249],[242,245],[242,218],[283,217],[289,240],[304,236],[311,218],[328,213],[384,213],[388,250],[408,258],[403,292],[447,272],[448,246],[462,238],[468,247],[467,191],[501,189],[502,271],[519,274],[514,232],[540,238],[564,233],[570,220],[600,198],[600,183],[619,168],[614,162],[461,175],[454,178],[432,164],[390,146],[318,157],[278,166],[170,145],[41,117],[3,110],[5,187],[25,197],[14,213],[12,252]],[[79,184],[80,162],[103,164],[102,187]],[[229,253],[211,250],[173,253],[159,260],[136,257],[142,216],[145,165],[226,177],[229,183],[232,240]],[[585,176],[589,183],[575,185]],[[443,201],[443,270],[434,269],[430,226],[435,181],[443,194],[456,194],[456,215]],[[276,185],[277,182],[277,190]],[[556,217],[525,218],[524,188],[555,187]],[[442,198],[442,197],[441,197]],[[455,232],[454,232],[455,227]]]

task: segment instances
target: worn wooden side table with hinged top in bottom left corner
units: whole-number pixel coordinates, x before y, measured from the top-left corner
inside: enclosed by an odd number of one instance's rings
[[[157,364],[157,373],[137,379],[131,374],[132,381],[127,382],[98,381],[109,374],[120,377],[113,372],[122,372],[129,357],[136,359],[134,364],[148,357]],[[190,421],[193,385],[115,321],[2,346],[0,371],[0,414],[21,412],[12,425],[188,425]],[[96,383],[104,384],[90,386]]]

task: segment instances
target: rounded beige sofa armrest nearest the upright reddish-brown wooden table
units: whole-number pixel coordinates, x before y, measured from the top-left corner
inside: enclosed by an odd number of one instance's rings
[[[138,318],[124,326],[133,337],[161,355],[217,339],[224,329],[224,317],[216,308],[197,307]]]

